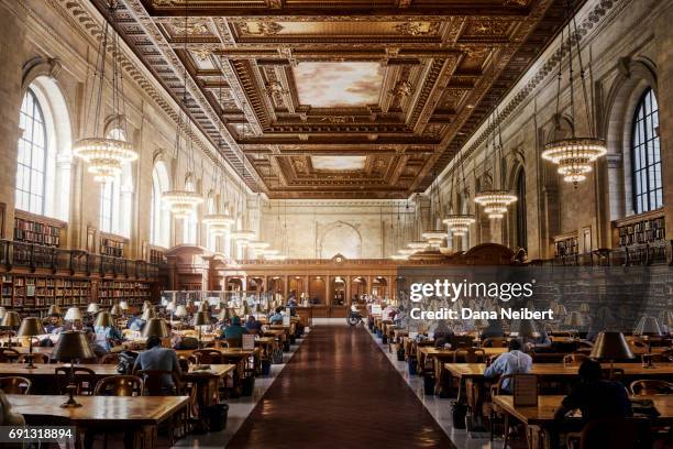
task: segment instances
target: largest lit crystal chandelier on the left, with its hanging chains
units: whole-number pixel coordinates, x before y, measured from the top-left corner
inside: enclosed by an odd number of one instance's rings
[[[108,6],[108,18],[104,21],[103,33],[98,47],[98,59],[96,62],[95,79],[91,83],[91,99],[89,105],[96,105],[95,110],[88,111],[93,114],[93,136],[84,138],[73,145],[73,154],[84,160],[88,167],[87,172],[93,174],[97,183],[111,183],[115,176],[121,174],[124,164],[137,160],[137,152],[130,143],[120,139],[103,138],[101,119],[104,113],[103,90],[106,85],[106,58],[110,44],[112,48],[112,116],[120,122],[121,130],[125,133],[125,98],[122,79],[122,68],[119,59],[119,35],[112,32],[108,36],[110,23],[117,20],[117,2],[110,1]],[[110,39],[110,40],[109,40]]]

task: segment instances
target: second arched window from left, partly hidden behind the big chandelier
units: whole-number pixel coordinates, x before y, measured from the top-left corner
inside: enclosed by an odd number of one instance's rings
[[[108,139],[126,141],[125,133],[114,128],[108,133]],[[131,164],[125,164],[122,173],[111,183],[100,186],[99,226],[103,232],[131,237],[131,217],[133,201],[133,175]]]

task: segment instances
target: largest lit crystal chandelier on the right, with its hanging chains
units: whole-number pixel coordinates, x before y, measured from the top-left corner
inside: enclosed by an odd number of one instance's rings
[[[566,15],[572,14],[572,11],[565,11]],[[574,28],[574,33],[573,33]],[[573,37],[574,34],[574,37]],[[580,78],[582,80],[582,91],[584,94],[584,108],[586,111],[587,130],[591,136],[580,138],[575,135],[575,89],[573,79],[573,41],[576,45],[577,63],[580,65]],[[561,46],[564,46],[564,32],[561,30]],[[542,151],[542,158],[550,161],[551,163],[559,166],[556,172],[563,176],[563,180],[566,183],[573,183],[577,187],[578,183],[586,179],[586,175],[592,172],[594,163],[602,156],[607,154],[607,145],[605,140],[597,139],[594,117],[593,117],[593,103],[589,100],[589,96],[586,88],[585,80],[585,67],[582,62],[582,51],[580,47],[580,33],[577,32],[577,22],[573,18],[567,23],[567,48],[569,48],[569,72],[570,72],[570,119],[572,122],[571,136],[556,139],[548,142]],[[587,68],[591,70],[591,62],[587,64]],[[556,94],[556,130],[560,129],[560,102],[561,102],[561,80],[563,75],[563,62],[559,62],[559,76],[558,76],[558,94]]]

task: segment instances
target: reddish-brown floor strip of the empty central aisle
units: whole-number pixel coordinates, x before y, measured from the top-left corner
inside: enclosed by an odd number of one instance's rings
[[[227,447],[455,446],[362,326],[320,326]]]

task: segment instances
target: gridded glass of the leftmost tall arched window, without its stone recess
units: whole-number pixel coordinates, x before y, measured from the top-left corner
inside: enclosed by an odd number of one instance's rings
[[[44,213],[47,135],[44,113],[33,89],[23,97],[19,127],[19,166],[16,169],[16,208]]]

